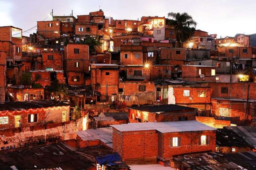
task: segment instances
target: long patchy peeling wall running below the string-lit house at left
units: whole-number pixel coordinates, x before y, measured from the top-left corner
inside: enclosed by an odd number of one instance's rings
[[[38,143],[75,139],[75,132],[82,130],[82,119],[65,123],[18,127],[0,131],[0,150],[8,150]]]

